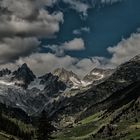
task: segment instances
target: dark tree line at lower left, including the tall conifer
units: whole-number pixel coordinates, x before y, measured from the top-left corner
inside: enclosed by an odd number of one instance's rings
[[[4,116],[0,111],[0,131],[4,131],[9,135],[16,136],[22,140],[49,140],[52,139],[51,134],[55,130],[45,111],[42,111],[37,119],[34,129],[22,127],[21,121],[13,121]],[[26,126],[26,124],[25,124]],[[12,138],[14,140],[14,138]]]

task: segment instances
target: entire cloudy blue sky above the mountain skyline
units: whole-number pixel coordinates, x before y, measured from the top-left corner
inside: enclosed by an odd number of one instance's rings
[[[1,0],[1,68],[116,67],[140,53],[139,15],[139,0]]]

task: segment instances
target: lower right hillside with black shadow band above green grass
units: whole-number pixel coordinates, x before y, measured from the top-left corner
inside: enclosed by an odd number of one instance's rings
[[[100,111],[99,110],[103,110]],[[139,140],[140,82],[118,91],[96,105],[96,111],[71,128],[57,133],[57,140]]]

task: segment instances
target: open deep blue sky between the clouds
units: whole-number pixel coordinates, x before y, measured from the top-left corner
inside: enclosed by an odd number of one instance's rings
[[[135,1],[135,2],[134,2]],[[66,52],[73,57],[104,56],[111,57],[107,48],[114,46],[136,32],[140,26],[140,1],[125,0],[113,5],[91,8],[88,16],[72,9],[64,11],[64,23],[55,39],[45,39],[43,44],[60,44],[73,38],[84,40],[86,50]],[[89,32],[73,34],[73,30],[87,27]]]

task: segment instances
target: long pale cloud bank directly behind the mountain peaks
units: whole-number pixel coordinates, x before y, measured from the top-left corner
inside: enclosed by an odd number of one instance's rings
[[[21,57],[15,63],[6,63],[1,66],[17,69],[23,63],[27,63],[37,75],[52,72],[56,68],[63,67],[83,77],[93,68],[100,65],[100,59],[98,57],[78,59],[68,55],[58,57],[52,53],[33,53],[30,56]]]

